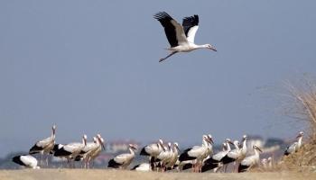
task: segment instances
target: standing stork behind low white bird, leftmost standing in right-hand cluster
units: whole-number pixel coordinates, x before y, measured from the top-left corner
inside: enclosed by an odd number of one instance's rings
[[[159,139],[157,143],[146,145],[144,148],[142,148],[140,155],[141,156],[149,156],[149,163],[152,166],[152,169],[155,168],[155,159],[156,157],[164,151],[163,147],[163,139]]]

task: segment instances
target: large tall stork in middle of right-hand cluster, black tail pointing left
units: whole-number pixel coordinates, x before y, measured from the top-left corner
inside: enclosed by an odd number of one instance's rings
[[[193,146],[185,149],[179,157],[180,162],[195,160],[193,171],[200,172],[203,159],[209,156],[209,143],[213,143],[213,140],[209,139],[207,135],[203,135],[202,146]]]

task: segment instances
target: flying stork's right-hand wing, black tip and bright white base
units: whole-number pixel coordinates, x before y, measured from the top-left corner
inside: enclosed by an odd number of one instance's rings
[[[183,18],[182,26],[187,40],[194,43],[195,33],[199,29],[199,15]]]

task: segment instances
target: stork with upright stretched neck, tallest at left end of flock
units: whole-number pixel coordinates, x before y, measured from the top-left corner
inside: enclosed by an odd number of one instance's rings
[[[29,154],[36,154],[41,153],[41,156],[43,154],[49,155],[51,152],[51,149],[54,147],[55,144],[55,131],[56,131],[56,125],[53,125],[51,127],[51,137],[41,139],[37,141],[32,148],[29,150]],[[42,161],[42,158],[41,158]],[[48,165],[48,157],[46,157],[46,165]]]

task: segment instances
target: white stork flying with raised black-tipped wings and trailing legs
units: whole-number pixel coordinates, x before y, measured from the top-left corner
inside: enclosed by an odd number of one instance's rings
[[[195,14],[191,17],[183,18],[182,25],[177,23],[165,12],[154,14],[153,17],[162,23],[166,37],[171,45],[171,48],[169,48],[171,54],[165,58],[161,58],[159,62],[162,62],[177,52],[190,52],[194,49],[212,49],[217,51],[214,46],[210,44],[197,45],[194,43],[195,33],[199,28],[198,15]]]

